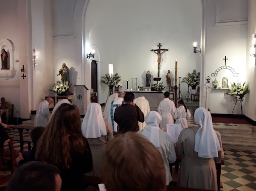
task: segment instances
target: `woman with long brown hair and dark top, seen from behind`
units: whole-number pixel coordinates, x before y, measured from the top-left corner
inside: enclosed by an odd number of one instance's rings
[[[84,191],[84,173],[92,169],[91,150],[82,135],[80,112],[62,104],[37,141],[35,159],[57,166],[61,171],[61,190]]]

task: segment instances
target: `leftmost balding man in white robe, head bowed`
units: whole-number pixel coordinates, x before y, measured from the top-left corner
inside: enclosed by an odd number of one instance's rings
[[[54,100],[52,98],[46,98],[41,104],[39,104],[36,115],[35,115],[35,127],[41,126],[46,127],[47,121],[50,116],[49,105],[52,104]]]

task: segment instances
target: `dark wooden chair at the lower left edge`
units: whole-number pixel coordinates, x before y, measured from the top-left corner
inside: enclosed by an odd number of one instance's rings
[[[5,149],[5,148],[0,149],[0,169],[8,168],[7,166],[3,166],[3,160],[4,160],[4,157],[7,160],[9,160],[9,158],[10,158],[10,161],[11,161],[11,174],[13,174],[15,169],[16,169],[16,156],[19,155],[19,151],[18,150],[14,150],[13,138],[10,138],[8,146],[9,146],[8,149]]]

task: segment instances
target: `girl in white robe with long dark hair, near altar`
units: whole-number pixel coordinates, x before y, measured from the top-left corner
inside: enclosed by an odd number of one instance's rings
[[[185,129],[188,127],[187,120],[191,117],[191,113],[185,106],[183,100],[178,102],[178,106],[179,107],[176,109],[173,119],[176,120],[176,124],[180,123],[182,129]]]

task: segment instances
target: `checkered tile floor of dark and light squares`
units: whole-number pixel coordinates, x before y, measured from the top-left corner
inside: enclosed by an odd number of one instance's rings
[[[101,107],[104,113],[105,107]],[[193,114],[194,108],[189,109]],[[214,123],[215,126],[237,126],[236,124]],[[193,119],[188,120],[188,126],[193,126]],[[19,136],[18,130],[8,130],[9,136]],[[23,132],[24,136],[29,136],[28,132]],[[8,145],[6,145],[8,147]],[[14,142],[15,149],[20,149],[20,143]],[[27,144],[24,144],[27,150]],[[224,162],[221,170],[222,191],[251,191],[256,190],[256,152],[225,150]]]

